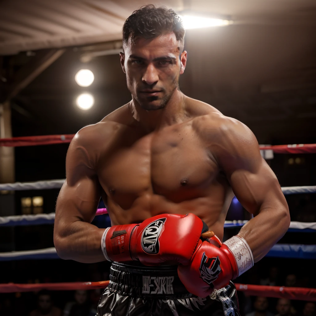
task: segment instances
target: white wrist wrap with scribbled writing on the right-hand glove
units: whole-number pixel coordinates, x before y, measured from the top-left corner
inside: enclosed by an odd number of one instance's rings
[[[238,276],[253,267],[252,252],[246,240],[239,236],[233,236],[223,242],[223,244],[229,248],[236,259]]]

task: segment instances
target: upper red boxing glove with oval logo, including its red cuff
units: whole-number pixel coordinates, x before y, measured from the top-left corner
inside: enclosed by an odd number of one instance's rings
[[[206,224],[194,214],[161,214],[141,224],[106,228],[101,240],[109,261],[139,260],[145,265],[189,264]]]

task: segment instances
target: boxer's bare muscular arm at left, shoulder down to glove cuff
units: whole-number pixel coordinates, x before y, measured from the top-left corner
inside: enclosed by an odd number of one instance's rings
[[[104,229],[91,224],[100,188],[93,162],[82,145],[83,132],[76,134],[67,152],[66,181],[56,205],[54,244],[60,258],[93,263],[105,260],[101,250]]]

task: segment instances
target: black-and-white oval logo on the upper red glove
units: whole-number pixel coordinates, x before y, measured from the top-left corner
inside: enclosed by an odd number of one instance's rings
[[[144,252],[149,254],[157,254],[159,252],[159,237],[161,235],[163,224],[166,222],[166,217],[157,219],[155,222],[148,224],[142,234],[142,248]]]

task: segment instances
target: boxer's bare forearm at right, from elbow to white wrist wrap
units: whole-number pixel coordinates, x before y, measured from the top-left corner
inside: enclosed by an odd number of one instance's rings
[[[289,224],[287,205],[262,206],[259,214],[240,229],[238,236],[247,241],[252,250],[254,262],[258,262],[283,237]]]

